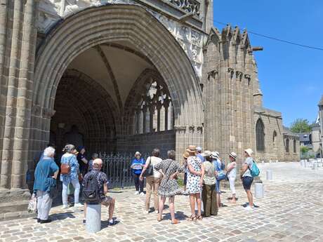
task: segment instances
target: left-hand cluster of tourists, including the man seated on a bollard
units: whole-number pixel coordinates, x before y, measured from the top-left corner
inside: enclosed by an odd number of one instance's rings
[[[62,209],[69,208],[68,195],[74,194],[74,208],[82,208],[79,202],[80,191],[84,197],[84,220],[86,224],[86,208],[88,203],[101,203],[108,208],[109,225],[116,224],[113,219],[115,199],[108,196],[107,175],[101,172],[103,161],[98,154],[93,154],[88,161],[84,147],[77,149],[73,144],[65,145],[60,159],[60,168],[54,161],[55,148],[52,144],[41,154],[34,172],[34,193],[37,195],[37,222],[48,223],[49,210],[57,195],[56,179],[60,172],[62,182]],[[93,196],[94,194],[94,196]]]

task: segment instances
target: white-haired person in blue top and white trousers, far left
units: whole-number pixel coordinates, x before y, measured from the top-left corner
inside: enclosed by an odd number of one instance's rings
[[[56,178],[58,175],[58,166],[53,157],[55,149],[47,147],[44,150],[44,156],[37,163],[34,172],[34,192],[37,194],[37,222],[41,224],[51,222],[48,220],[49,210],[53,197],[51,197],[51,190],[56,187]]]

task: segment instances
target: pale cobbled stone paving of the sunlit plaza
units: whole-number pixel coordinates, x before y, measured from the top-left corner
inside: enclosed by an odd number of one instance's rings
[[[0,222],[0,241],[323,241],[323,168],[302,168],[299,163],[261,163],[265,197],[255,199],[258,208],[246,211],[246,196],[237,189],[239,200],[230,205],[228,189],[223,189],[225,208],[218,216],[196,224],[190,216],[187,196],[176,196],[176,215],[180,224],[172,225],[169,210],[164,220],[144,213],[145,197],[133,191],[114,191],[115,215],[119,223],[107,227],[103,210],[102,227],[97,234],[87,234],[81,210],[51,210],[50,224],[37,224],[32,217]],[[265,180],[265,170],[273,171],[273,180]],[[253,189],[253,188],[252,188]],[[168,207],[167,207],[168,208]]]

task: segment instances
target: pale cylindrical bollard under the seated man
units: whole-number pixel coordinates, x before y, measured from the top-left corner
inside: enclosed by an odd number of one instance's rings
[[[88,204],[86,208],[86,231],[96,233],[101,230],[101,204]]]

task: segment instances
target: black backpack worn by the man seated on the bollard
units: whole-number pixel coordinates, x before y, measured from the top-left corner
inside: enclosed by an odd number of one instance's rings
[[[97,173],[89,173],[83,188],[83,197],[86,203],[100,203],[100,187]]]

